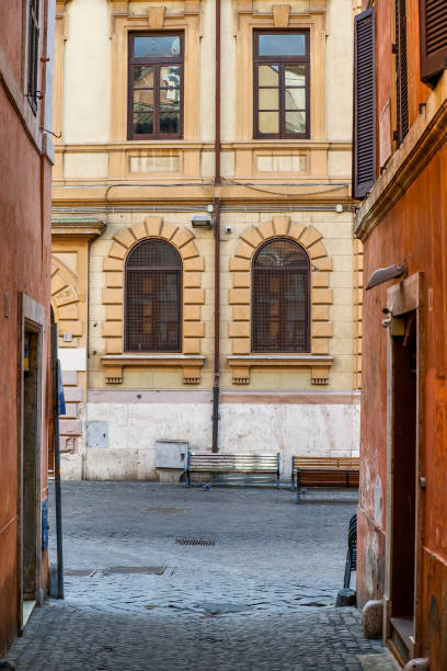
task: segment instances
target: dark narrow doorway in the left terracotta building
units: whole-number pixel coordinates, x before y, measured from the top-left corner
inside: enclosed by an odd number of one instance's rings
[[[22,596],[39,600],[41,531],[41,366],[39,333],[27,330],[23,341],[22,428]],[[26,605],[24,603],[24,618]]]

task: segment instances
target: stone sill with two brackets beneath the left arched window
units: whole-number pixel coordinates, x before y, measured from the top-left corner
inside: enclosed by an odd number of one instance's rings
[[[187,354],[105,354],[101,357],[105,368],[105,382],[108,385],[121,385],[123,383],[123,368],[183,368],[183,384],[198,385],[200,382],[200,368],[205,363],[205,356],[192,356]]]

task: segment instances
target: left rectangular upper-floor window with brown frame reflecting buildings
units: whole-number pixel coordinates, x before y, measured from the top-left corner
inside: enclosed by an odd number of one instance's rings
[[[183,34],[129,35],[128,139],[183,135]]]

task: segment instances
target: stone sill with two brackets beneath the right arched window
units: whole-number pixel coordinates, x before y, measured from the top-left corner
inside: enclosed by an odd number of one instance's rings
[[[329,384],[333,356],[321,354],[248,354],[228,357],[233,385],[249,385],[251,368],[308,368],[312,385]]]

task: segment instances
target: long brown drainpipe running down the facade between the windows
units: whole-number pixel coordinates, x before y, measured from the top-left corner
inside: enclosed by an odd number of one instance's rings
[[[220,184],[220,0],[216,0],[216,90],[215,90],[215,186]],[[215,348],[213,385],[213,452],[219,451],[220,393],[220,198],[214,198],[215,214]]]

